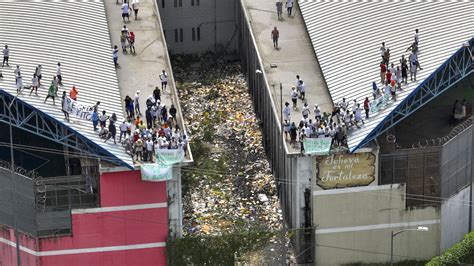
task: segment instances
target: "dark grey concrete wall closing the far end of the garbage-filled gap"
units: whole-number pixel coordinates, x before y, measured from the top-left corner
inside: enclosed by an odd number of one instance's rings
[[[173,54],[233,51],[237,43],[237,0],[156,0],[168,50]],[[176,7],[175,7],[176,2]],[[199,6],[197,3],[199,2]],[[181,6],[180,6],[181,3]],[[194,6],[192,5],[194,3]],[[195,28],[195,40],[192,29]],[[200,29],[200,40],[197,39]],[[183,30],[181,41],[180,30]],[[178,30],[178,41],[175,38]]]

